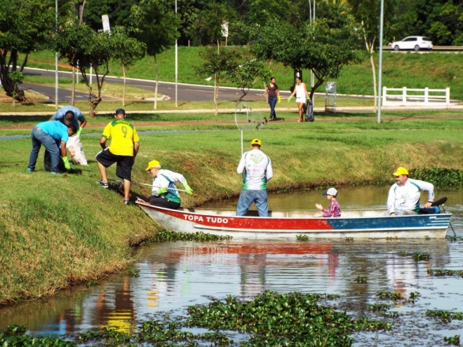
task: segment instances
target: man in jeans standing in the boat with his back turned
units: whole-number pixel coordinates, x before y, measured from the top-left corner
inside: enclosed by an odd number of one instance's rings
[[[267,182],[274,175],[269,156],[260,150],[259,139],[251,141],[251,150],[241,156],[236,171],[243,174],[243,188],[238,200],[236,215],[246,215],[252,203],[255,203],[260,217],[269,217],[267,202]]]

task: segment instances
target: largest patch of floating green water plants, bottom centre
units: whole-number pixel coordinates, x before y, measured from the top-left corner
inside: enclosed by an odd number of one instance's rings
[[[354,320],[347,313],[318,304],[325,294],[279,294],[266,291],[252,301],[234,296],[189,306],[187,325],[250,334],[241,346],[351,346],[354,330],[390,329],[370,318]]]

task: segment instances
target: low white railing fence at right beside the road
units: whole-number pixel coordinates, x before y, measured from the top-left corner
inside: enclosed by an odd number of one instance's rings
[[[384,106],[397,105],[449,105],[450,88],[445,89],[411,89],[403,88],[382,88],[382,104]]]

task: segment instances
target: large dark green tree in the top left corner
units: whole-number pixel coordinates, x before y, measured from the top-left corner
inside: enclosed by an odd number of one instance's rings
[[[18,57],[25,54],[19,67],[22,72],[27,56],[51,42],[54,30],[54,6],[48,0],[0,0],[0,80],[6,95],[19,102],[26,100],[10,74],[18,71]],[[14,76],[14,75],[13,75]]]

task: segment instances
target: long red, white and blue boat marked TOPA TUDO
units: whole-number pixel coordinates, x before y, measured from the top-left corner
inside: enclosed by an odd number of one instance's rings
[[[182,233],[211,233],[234,238],[445,238],[450,213],[387,216],[386,209],[342,210],[338,218],[316,217],[318,210],[269,210],[259,217],[250,210],[236,216],[236,210],[180,207],[178,210],[135,203],[165,229]]]

